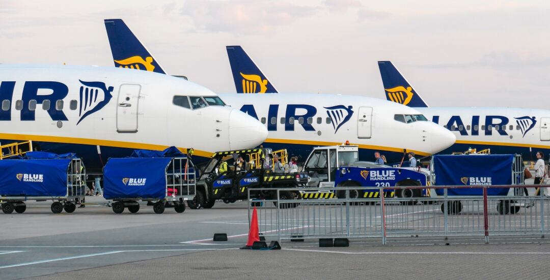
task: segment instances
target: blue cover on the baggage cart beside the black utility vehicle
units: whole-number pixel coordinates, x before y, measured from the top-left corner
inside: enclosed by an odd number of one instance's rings
[[[109,159],[103,169],[105,199],[166,197],[166,167],[172,158]]]

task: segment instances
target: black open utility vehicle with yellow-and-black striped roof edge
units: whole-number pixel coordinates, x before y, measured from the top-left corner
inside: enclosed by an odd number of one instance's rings
[[[260,164],[249,161],[238,167],[235,162],[239,155],[243,159],[259,160]],[[248,188],[262,188],[251,192],[252,199],[273,199],[277,195],[273,188],[295,188],[305,183],[304,173],[301,176],[299,172],[274,173],[271,160],[271,150],[264,148],[214,153],[197,182],[197,199],[190,201],[190,208],[212,208],[216,200],[224,203],[246,200]],[[228,166],[227,172],[219,171],[223,162]],[[300,193],[284,191],[279,196],[281,199],[299,199]]]

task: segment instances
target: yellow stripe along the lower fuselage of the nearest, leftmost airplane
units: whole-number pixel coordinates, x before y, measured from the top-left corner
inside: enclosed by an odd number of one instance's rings
[[[62,137],[62,136],[43,136],[43,135],[23,135],[23,134],[11,134],[11,133],[0,133],[0,139],[83,144],[83,145],[100,145],[100,146],[107,146],[107,147],[147,149],[147,150],[163,150],[169,147],[166,145],[101,140],[101,139]],[[182,153],[187,153],[187,148],[178,147],[178,149],[182,151]],[[194,154],[209,158],[213,153],[195,149]]]

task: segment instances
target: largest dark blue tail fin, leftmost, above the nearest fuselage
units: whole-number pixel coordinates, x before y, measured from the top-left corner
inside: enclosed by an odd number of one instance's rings
[[[114,66],[166,74],[122,19],[106,19]]]

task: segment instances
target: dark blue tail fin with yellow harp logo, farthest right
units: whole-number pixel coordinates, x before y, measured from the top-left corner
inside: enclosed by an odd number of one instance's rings
[[[389,101],[409,107],[428,107],[391,61],[378,61],[378,68]]]

